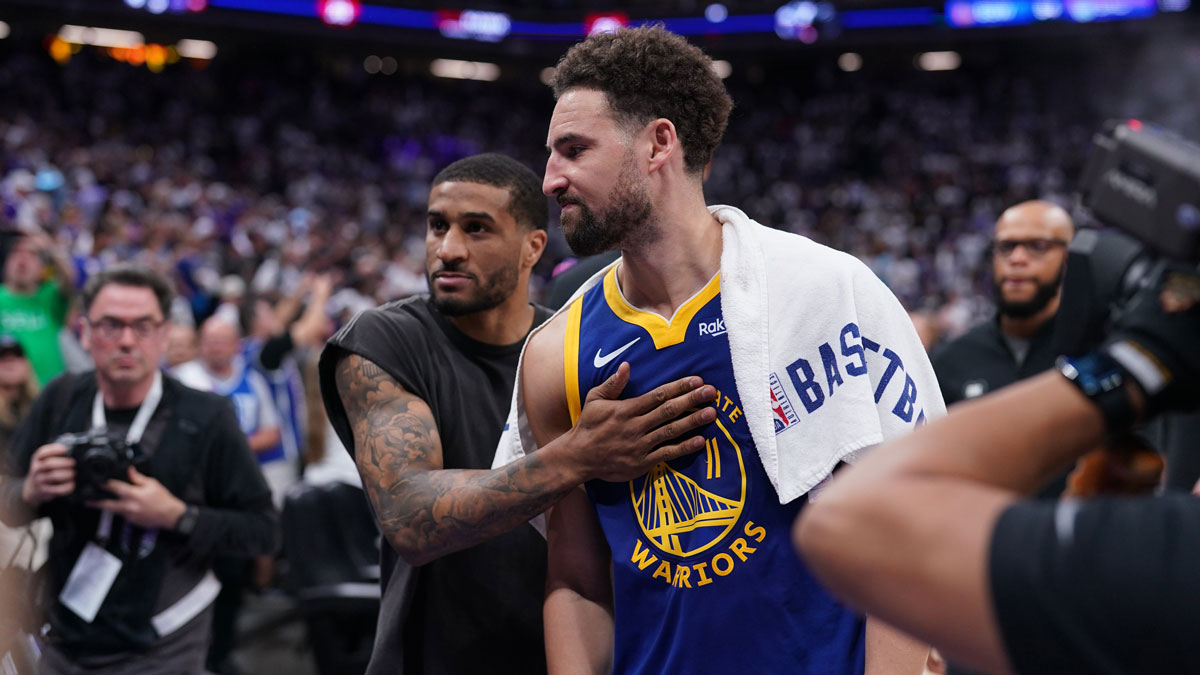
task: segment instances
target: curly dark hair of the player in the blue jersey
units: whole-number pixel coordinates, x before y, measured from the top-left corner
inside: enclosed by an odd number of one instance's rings
[[[602,91],[626,127],[671,120],[691,173],[713,159],[733,109],[713,60],[661,25],[596,34],[575,44],[558,61],[551,88],[554,98],[576,88]]]

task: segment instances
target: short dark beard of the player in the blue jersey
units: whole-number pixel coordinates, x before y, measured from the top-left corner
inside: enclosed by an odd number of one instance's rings
[[[654,233],[648,225],[654,207],[646,184],[638,183],[634,173],[631,153],[622,160],[620,173],[612,189],[612,205],[599,216],[587,204],[570,197],[559,198],[558,203],[577,205],[574,225],[562,222],[563,237],[576,256],[594,256],[653,240]]]

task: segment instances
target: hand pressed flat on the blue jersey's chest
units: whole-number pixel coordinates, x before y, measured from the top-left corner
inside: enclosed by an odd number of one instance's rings
[[[620,400],[628,383],[629,364],[623,363],[588,393],[578,422],[566,434],[584,480],[631,480],[659,462],[704,447],[700,436],[673,441],[716,419],[716,408],[707,405],[716,398],[716,388],[700,377],[684,377]]]

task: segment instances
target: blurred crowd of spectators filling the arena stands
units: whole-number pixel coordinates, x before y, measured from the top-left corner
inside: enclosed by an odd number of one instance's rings
[[[313,478],[353,484],[317,400],[319,345],[359,310],[426,291],[425,205],[440,168],[498,151],[540,173],[550,91],[533,78],[373,77],[344,54],[300,50],[155,74],[88,49],[58,64],[8,42],[0,442],[40,384],[90,365],[73,292],[132,261],[179,294],[168,365],[191,363],[214,388],[230,368],[253,365],[266,378],[256,387],[280,404],[271,446],[284,473],[308,465]],[[1087,222],[1073,191],[1104,119],[1146,117],[1200,136],[1189,101],[1200,42],[1044,67],[798,70],[751,66],[728,80],[736,109],[706,196],[858,256],[930,345],[991,312],[990,235],[1007,207],[1048,199]],[[556,234],[534,298],[569,257]],[[13,313],[10,295],[35,294]],[[259,566],[253,584],[270,575]]]

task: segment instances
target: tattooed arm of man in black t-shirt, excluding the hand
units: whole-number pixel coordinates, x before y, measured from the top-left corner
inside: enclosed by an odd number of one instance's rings
[[[336,377],[362,486],[402,554],[424,562],[478,544],[574,488],[536,454],[494,471],[443,470],[442,440],[425,401],[356,354],[341,360]]]

